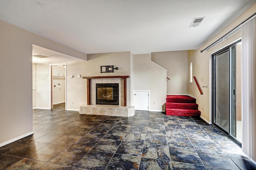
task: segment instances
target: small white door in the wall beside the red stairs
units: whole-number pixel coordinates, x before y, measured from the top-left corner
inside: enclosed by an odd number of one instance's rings
[[[148,111],[148,91],[135,91],[134,90],[134,106],[135,110],[146,110]]]

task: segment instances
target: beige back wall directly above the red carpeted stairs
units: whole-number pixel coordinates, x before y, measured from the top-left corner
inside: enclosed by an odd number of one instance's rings
[[[152,61],[167,70],[167,94],[188,94],[188,51],[151,53]]]

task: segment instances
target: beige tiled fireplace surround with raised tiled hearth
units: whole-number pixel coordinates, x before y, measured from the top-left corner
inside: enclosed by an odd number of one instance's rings
[[[86,77],[83,77],[86,78]],[[87,77],[88,78],[88,77]],[[124,78],[90,78],[90,104],[82,104],[79,109],[80,114],[109,115],[109,116],[134,116],[134,106],[124,104]],[[87,81],[88,82],[88,81]],[[119,84],[119,106],[96,105],[96,83],[118,83]],[[87,88],[88,89],[88,88]]]

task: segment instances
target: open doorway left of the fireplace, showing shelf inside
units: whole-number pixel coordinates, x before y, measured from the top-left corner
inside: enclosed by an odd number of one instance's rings
[[[66,109],[66,64],[50,64],[50,106]]]

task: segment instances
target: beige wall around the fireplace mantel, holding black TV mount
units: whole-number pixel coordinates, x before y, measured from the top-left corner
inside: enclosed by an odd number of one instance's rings
[[[101,53],[88,55],[88,61],[67,63],[67,109],[79,109],[81,104],[87,104],[86,79],[77,78],[78,74],[84,76],[131,76],[130,52]],[[100,66],[114,65],[118,70],[111,73],[100,73]],[[70,78],[74,75],[74,78]],[[130,106],[130,79],[127,79],[127,106]],[[72,104],[74,102],[74,104]]]

